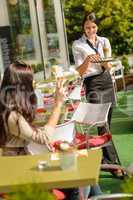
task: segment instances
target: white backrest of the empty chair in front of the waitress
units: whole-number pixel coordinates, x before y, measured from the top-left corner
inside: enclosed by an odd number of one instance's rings
[[[89,125],[104,125],[107,123],[111,103],[93,104],[80,102],[72,116],[72,121]]]

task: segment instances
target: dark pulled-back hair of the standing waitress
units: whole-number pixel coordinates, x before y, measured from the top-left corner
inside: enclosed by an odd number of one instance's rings
[[[91,21],[93,23],[95,23],[96,25],[99,25],[99,20],[98,18],[96,17],[95,13],[94,12],[91,12],[91,13],[86,13],[84,18],[83,18],[83,21],[82,21],[82,30],[84,31],[84,25],[85,25],[85,22],[86,21]]]

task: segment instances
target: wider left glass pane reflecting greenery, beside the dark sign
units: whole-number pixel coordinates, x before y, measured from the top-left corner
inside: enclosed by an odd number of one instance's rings
[[[12,30],[14,57],[32,59],[35,57],[33,33],[28,0],[7,0]]]

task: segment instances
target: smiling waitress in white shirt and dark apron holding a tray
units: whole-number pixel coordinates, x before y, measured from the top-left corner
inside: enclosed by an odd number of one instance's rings
[[[109,62],[99,62],[105,57],[111,57],[111,45],[107,38],[97,35],[98,19],[95,13],[85,15],[82,23],[83,35],[72,44],[75,66],[84,79],[87,102],[115,104]],[[108,114],[110,127],[112,107]],[[106,127],[98,127],[98,134],[107,132]],[[120,164],[116,149],[112,143],[103,148],[103,163]],[[122,176],[121,171],[112,171],[115,176]]]

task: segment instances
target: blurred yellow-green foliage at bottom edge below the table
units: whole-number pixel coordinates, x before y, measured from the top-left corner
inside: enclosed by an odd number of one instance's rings
[[[7,200],[55,200],[50,192],[46,191],[42,185],[26,185],[14,189],[13,193],[6,197]]]

